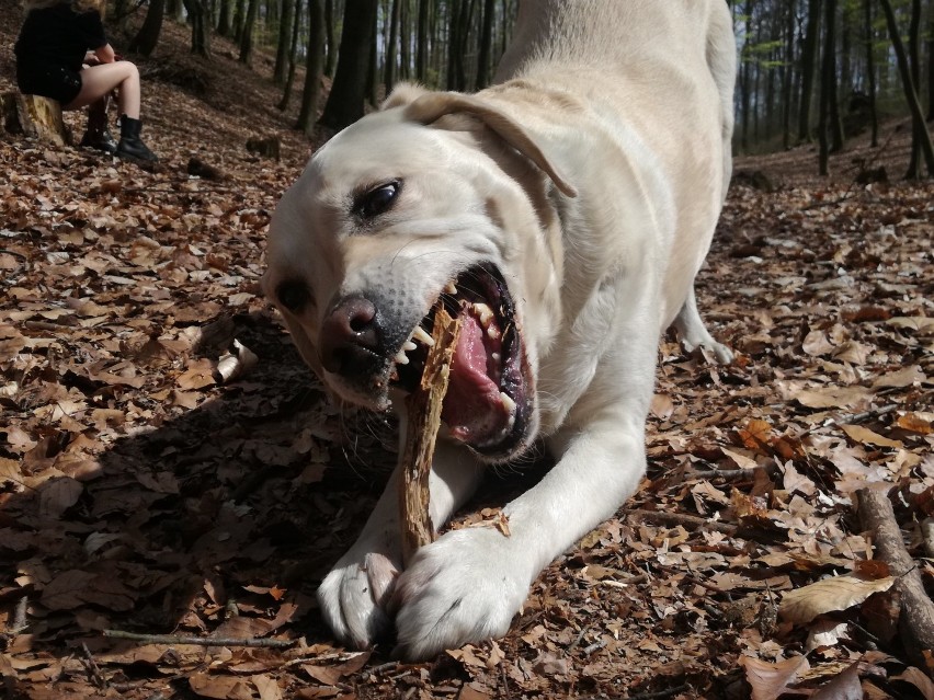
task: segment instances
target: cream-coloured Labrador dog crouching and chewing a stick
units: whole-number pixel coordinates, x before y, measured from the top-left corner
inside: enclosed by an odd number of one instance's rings
[[[730,179],[736,43],[722,0],[521,3],[494,84],[398,87],[310,159],[274,211],[263,276],[340,401],[398,410],[441,300],[462,332],[430,479],[440,528],[488,464],[555,458],[403,567],[396,470],[318,590],[345,643],[395,624],[410,659],[501,636],[538,572],[646,469],[658,343],[730,351],[694,277]]]

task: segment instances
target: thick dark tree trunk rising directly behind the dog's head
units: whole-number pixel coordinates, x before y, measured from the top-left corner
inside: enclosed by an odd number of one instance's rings
[[[346,0],[341,55],[321,124],[340,130],[363,116],[377,0]]]

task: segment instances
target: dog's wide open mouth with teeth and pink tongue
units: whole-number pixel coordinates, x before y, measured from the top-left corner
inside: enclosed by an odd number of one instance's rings
[[[496,267],[478,265],[448,284],[441,299],[460,319],[441,417],[455,439],[493,459],[505,456],[522,440],[531,409],[522,334],[505,282]],[[422,319],[394,358],[392,382],[403,391],[421,379],[433,317]]]

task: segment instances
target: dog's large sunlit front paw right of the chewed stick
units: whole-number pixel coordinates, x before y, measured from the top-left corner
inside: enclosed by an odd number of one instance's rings
[[[409,659],[501,636],[528,594],[528,574],[492,528],[455,530],[418,551],[392,594]]]

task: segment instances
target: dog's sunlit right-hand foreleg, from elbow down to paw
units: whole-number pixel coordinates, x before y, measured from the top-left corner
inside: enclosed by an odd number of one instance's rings
[[[636,490],[646,459],[641,417],[607,411],[565,441],[543,481],[504,508],[509,536],[465,528],[419,550],[394,594],[397,653],[426,658],[504,634],[538,572]]]

